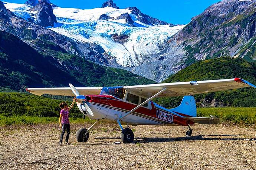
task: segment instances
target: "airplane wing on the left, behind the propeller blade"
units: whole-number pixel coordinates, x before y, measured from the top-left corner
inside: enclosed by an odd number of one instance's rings
[[[101,93],[101,87],[77,87],[80,95],[99,95]],[[49,95],[61,95],[61,96],[75,96],[70,87],[58,87],[58,88],[27,88],[26,91],[42,96],[43,94]]]

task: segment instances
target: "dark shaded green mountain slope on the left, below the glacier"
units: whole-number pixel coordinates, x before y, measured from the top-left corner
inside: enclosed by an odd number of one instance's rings
[[[12,34],[0,31],[0,91],[26,87],[117,86],[155,83],[131,72],[108,68],[40,42],[40,53]],[[58,47],[57,47],[58,46]],[[42,52],[45,51],[45,52]]]

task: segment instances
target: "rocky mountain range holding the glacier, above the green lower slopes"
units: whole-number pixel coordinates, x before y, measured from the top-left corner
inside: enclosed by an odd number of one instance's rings
[[[114,5],[112,1],[109,3]],[[22,15],[10,3],[4,5],[25,20],[24,16],[33,17],[27,10]],[[31,42],[43,36],[70,54],[108,67],[127,69],[157,82],[203,59],[223,56],[256,59],[256,0],[220,1],[193,17],[186,26],[161,23],[137,7],[109,6],[91,10],[53,7],[57,24],[49,29],[27,24],[33,30],[29,37],[24,37],[22,29],[26,29],[20,24],[18,27],[14,24],[15,29],[8,24],[0,29],[39,50],[40,44]],[[118,18],[127,13],[127,17]]]

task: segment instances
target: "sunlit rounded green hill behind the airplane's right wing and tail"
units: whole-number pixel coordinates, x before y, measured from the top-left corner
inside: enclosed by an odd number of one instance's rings
[[[256,84],[256,62],[243,59],[216,58],[199,61],[168,77],[163,83],[199,81],[211,79],[243,78]],[[197,106],[255,107],[256,89],[241,88],[228,91],[204,93],[194,96]],[[161,98],[156,101],[165,107],[177,106],[182,97]]]

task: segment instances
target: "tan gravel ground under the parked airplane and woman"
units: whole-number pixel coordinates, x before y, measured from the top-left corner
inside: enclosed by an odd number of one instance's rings
[[[256,169],[256,129],[226,125],[131,126],[135,140],[121,141],[117,125],[99,124],[88,142],[59,146],[58,125],[1,128],[0,169]],[[86,128],[89,125],[85,125]],[[64,137],[65,138],[65,137]]]

